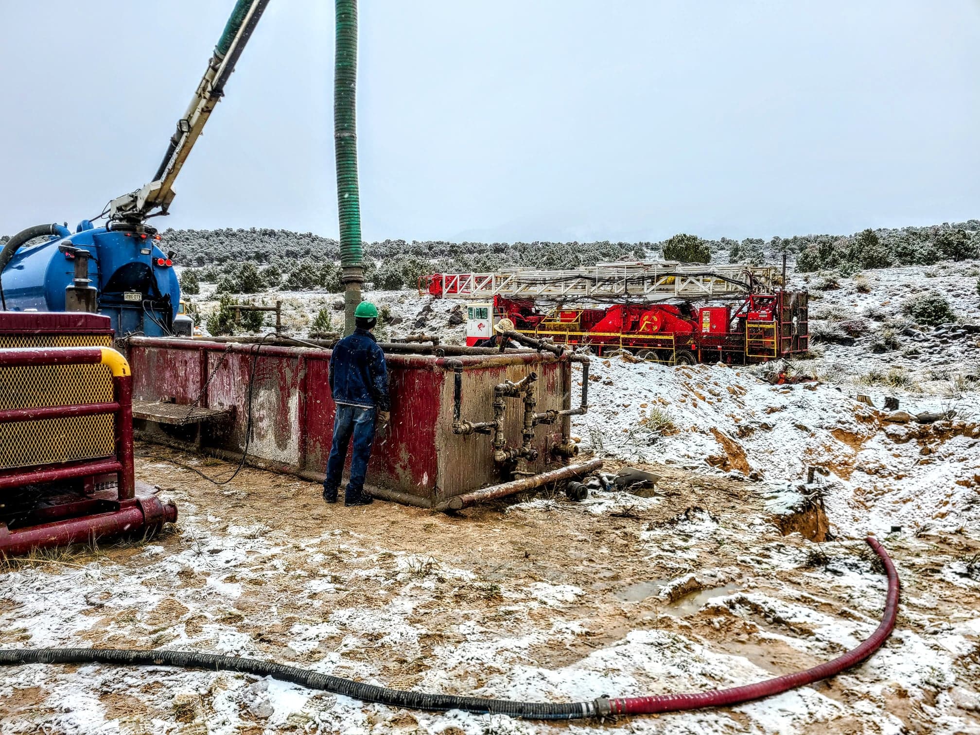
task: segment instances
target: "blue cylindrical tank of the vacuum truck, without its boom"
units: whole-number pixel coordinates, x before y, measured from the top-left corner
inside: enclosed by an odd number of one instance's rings
[[[180,285],[171,257],[161,249],[160,235],[152,227],[126,228],[117,223],[111,227],[94,227],[86,220],[71,233],[54,225],[56,234],[49,239],[20,247],[0,274],[6,308],[14,312],[77,310],[78,299],[73,294],[82,287],[94,297],[87,303],[112,319],[118,337],[172,334]],[[77,262],[84,268],[85,260],[87,283],[76,267]]]

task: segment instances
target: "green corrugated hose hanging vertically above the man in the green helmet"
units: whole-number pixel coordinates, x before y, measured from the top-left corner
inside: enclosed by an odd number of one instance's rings
[[[337,210],[340,215],[340,266],[344,280],[344,333],[354,331],[361,303],[364,253],[358,191],[357,80],[358,3],[336,0],[337,46],[333,75],[333,140],[337,159]]]

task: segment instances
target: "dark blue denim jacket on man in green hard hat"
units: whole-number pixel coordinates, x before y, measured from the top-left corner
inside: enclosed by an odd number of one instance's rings
[[[384,352],[367,329],[355,329],[333,346],[330,392],[334,403],[391,410]]]

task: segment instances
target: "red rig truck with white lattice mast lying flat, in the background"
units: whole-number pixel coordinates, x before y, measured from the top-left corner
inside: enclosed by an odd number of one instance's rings
[[[419,292],[469,302],[467,345],[507,318],[525,335],[599,355],[628,350],[669,365],[746,364],[808,350],[807,292],[779,282],[769,267],[638,261],[434,273],[419,279]]]

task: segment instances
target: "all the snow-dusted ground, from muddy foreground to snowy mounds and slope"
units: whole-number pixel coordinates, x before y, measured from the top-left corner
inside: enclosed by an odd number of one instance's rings
[[[975,269],[867,271],[866,285],[840,278],[828,291],[810,276],[814,320],[863,319],[853,345],[814,345],[791,366],[816,383],[594,360],[574,433],[613,467],[661,473],[652,497],[539,495],[457,517],[327,509],[316,485],[246,469],[216,488],[146,448],[158,459],[139,476],[177,501],[176,532],[0,572],[3,646],[193,649],[391,687],[568,701],[707,691],[832,659],[881,614],[885,579],[861,540],[874,533],[903,580],[898,627],[831,681],[734,709],[564,726],[365,706],[227,673],[34,665],[0,670],[0,733],[980,733],[974,338],[907,335],[901,321],[907,295],[936,284],[980,323]],[[448,324],[453,302],[368,297],[401,319],[389,336],[463,341]],[[338,297],[259,299],[282,300],[302,334]],[[892,348],[875,352],[886,328]],[[905,377],[889,381],[896,368]],[[886,397],[956,416],[896,422]],[[801,488],[809,466],[816,482]],[[780,533],[773,515],[792,513],[801,491],[822,498],[835,541]]]

